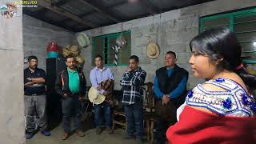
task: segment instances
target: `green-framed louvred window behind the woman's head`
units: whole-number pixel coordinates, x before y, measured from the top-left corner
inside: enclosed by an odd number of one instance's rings
[[[200,32],[228,26],[242,46],[244,63],[256,64],[256,8],[200,18]]]

